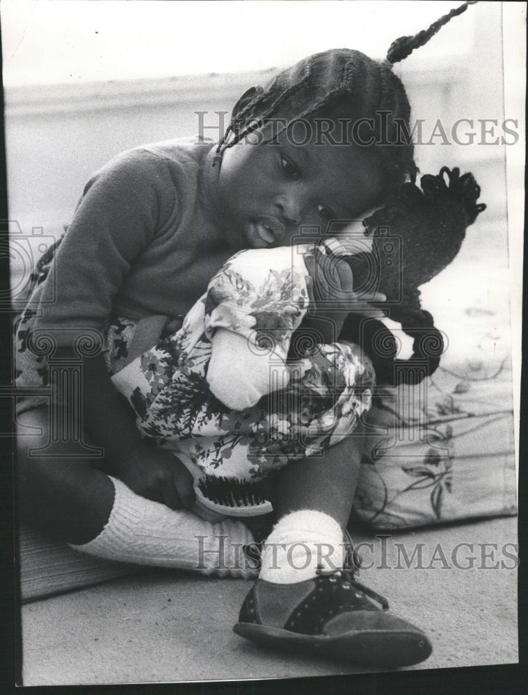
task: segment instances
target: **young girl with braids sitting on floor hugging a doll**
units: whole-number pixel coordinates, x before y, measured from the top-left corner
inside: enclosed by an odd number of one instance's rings
[[[30,334],[34,343],[39,334],[51,336],[53,359],[65,363],[79,354],[87,332],[100,334],[112,350],[143,318],[188,313],[233,252],[287,246],[306,228],[324,231],[330,220],[356,219],[414,180],[412,145],[394,145],[402,124],[410,131],[410,108],[390,63],[467,4],[416,40],[399,42],[390,62],[327,51],[280,73],[265,89],[248,90],[217,147],[193,140],[149,145],[97,172],[32,298],[36,316],[26,313],[19,325],[19,383],[45,379],[42,357],[33,366],[26,362]],[[314,126],[310,137],[295,130],[300,122]],[[189,511],[191,473],[141,438],[100,352],[83,361],[80,397],[83,441],[101,447],[104,458],[94,464],[61,437],[54,457],[46,457],[35,436],[20,436],[22,514],[84,552],[184,569],[195,569],[202,539],[202,569],[214,571],[218,537],[227,537],[223,566],[248,575],[237,562],[240,546],[254,540],[248,526]],[[49,412],[33,400],[18,418],[42,428],[42,445]],[[323,459],[308,457],[280,471],[273,500],[278,523],[237,625],[244,637],[375,665],[412,664],[431,652],[423,632],[387,612],[386,601],[344,566],[360,457],[358,438],[346,437]]]

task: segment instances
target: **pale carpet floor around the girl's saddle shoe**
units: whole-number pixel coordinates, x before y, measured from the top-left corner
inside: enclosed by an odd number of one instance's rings
[[[518,661],[516,521],[488,519],[387,538],[354,534],[363,543],[360,581],[431,637],[431,657],[411,669]],[[365,673],[343,662],[263,650],[235,635],[231,628],[249,587],[242,580],[150,570],[26,603],[24,685]]]

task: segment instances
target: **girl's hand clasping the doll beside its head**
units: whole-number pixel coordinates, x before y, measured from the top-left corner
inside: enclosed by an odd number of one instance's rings
[[[387,297],[374,293],[368,300],[353,290],[353,275],[346,261],[326,256],[318,249],[305,255],[305,265],[310,277],[307,289],[313,309],[303,326],[317,330],[323,342],[333,343],[339,337],[344,320],[349,313],[373,318],[383,318],[385,313],[374,304],[385,302]]]

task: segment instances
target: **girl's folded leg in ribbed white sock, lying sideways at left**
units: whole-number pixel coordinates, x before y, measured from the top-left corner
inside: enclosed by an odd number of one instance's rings
[[[20,436],[18,441],[23,523],[96,557],[204,574],[255,576],[254,564],[248,564],[242,552],[243,546],[253,543],[253,535],[241,521],[211,523],[184,509],[175,511],[147,500],[95,468],[93,461],[100,464],[100,459],[31,455],[32,448],[47,443],[48,422],[45,407],[19,416],[21,425],[42,430],[40,436]]]

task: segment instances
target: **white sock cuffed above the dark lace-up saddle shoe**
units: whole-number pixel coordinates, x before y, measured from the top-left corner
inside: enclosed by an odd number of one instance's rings
[[[323,569],[343,566],[343,532],[328,514],[312,509],[291,512],[275,524],[264,543],[259,579],[294,584],[312,579]]]

